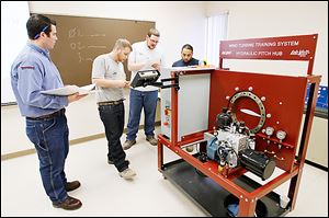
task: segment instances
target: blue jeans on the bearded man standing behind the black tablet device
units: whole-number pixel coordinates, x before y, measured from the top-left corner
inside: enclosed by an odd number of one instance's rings
[[[139,127],[140,113],[144,108],[144,131],[146,136],[155,136],[155,119],[158,102],[158,91],[141,92],[131,89],[129,119],[127,125],[127,139],[135,140]]]

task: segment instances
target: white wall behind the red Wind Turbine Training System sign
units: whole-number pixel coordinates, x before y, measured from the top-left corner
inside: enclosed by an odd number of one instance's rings
[[[227,39],[260,38],[318,33],[314,74],[328,85],[327,1],[211,1],[207,15],[228,11]],[[235,70],[306,74],[306,61],[227,61]]]

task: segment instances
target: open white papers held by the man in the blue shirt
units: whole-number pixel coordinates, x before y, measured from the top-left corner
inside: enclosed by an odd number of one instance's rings
[[[63,96],[67,96],[67,95],[71,95],[75,93],[79,93],[81,94],[89,94],[90,91],[94,88],[95,84],[88,84],[84,87],[78,87],[76,84],[70,84],[70,85],[66,85],[63,88],[58,88],[58,89],[54,89],[54,90],[46,90],[46,91],[41,91],[41,93],[43,94],[50,94],[50,95],[63,95]]]

